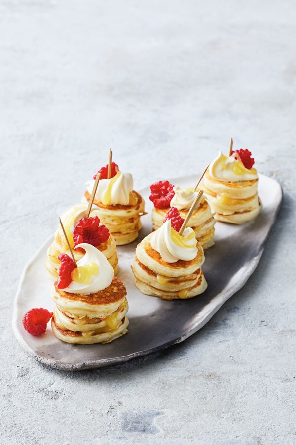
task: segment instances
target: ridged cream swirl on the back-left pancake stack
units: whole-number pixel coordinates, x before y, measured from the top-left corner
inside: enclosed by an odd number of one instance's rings
[[[86,189],[91,194],[95,181],[86,182]],[[121,204],[127,206],[130,193],[133,191],[134,181],[130,173],[118,171],[113,178],[101,179],[96,191],[95,199],[104,205]]]

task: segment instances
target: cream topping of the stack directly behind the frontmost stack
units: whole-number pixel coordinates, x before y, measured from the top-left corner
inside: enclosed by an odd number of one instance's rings
[[[87,207],[88,207],[88,203],[75,204],[74,206],[69,207],[69,209],[65,210],[65,212],[63,212],[60,217],[72,248],[74,248],[74,241],[73,241],[74,227],[78,223],[78,221],[81,220],[81,218],[86,217]],[[92,211],[90,212],[90,215],[89,215],[90,217],[97,215],[96,209],[98,210],[98,207],[93,204]],[[62,227],[60,224],[59,224],[57,232],[59,233],[59,235],[61,237],[63,245],[65,247],[67,247],[67,249],[68,249],[68,244],[67,244],[67,241],[65,239],[65,236],[64,236],[64,233],[63,233],[63,230],[62,230]]]

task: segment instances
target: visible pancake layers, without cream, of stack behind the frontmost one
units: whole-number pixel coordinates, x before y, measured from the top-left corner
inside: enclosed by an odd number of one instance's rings
[[[116,242],[112,235],[110,235],[109,239],[105,242],[97,246],[97,249],[102,252],[111,266],[114,269],[114,273],[116,275],[118,271],[118,256],[116,251]],[[70,250],[63,245],[60,233],[57,231],[55,234],[54,241],[51,243],[49,248],[47,249],[47,259],[45,261],[45,267],[49,273],[49,277],[52,281],[55,281],[58,278],[58,269],[60,266],[60,260],[58,260],[58,256],[60,253],[66,253],[71,256]],[[80,260],[84,252],[80,252],[78,250],[74,250],[74,258],[76,262]]]

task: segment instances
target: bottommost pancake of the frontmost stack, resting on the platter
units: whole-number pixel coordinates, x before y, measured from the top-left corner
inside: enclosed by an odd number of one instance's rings
[[[129,320],[125,316],[120,321],[118,327],[114,330],[109,328],[101,328],[98,330],[93,330],[89,332],[79,332],[79,331],[70,331],[69,329],[65,329],[62,326],[58,326],[56,324],[55,314],[51,319],[51,329],[54,335],[66,343],[74,343],[80,345],[91,345],[93,343],[110,343],[116,338],[121,337],[122,335],[128,332]]]

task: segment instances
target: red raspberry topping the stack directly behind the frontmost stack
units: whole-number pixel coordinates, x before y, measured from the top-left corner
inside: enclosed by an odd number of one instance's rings
[[[92,246],[99,246],[108,240],[110,234],[106,225],[100,225],[99,217],[82,218],[74,227],[73,241],[74,245],[88,243]],[[77,250],[83,251],[81,247]]]

